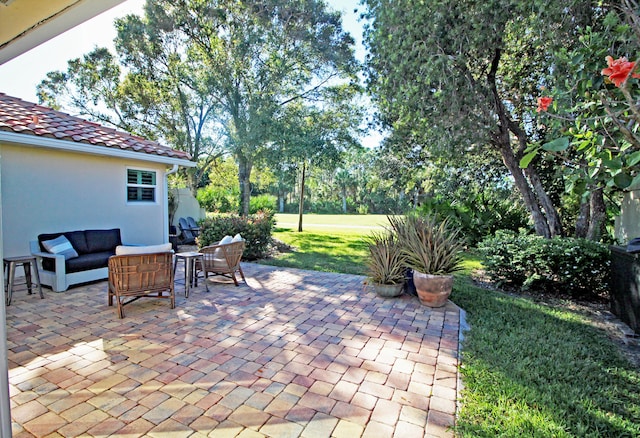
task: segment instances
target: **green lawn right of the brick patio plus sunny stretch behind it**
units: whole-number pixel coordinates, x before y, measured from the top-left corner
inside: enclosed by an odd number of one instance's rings
[[[270,263],[364,273],[371,223],[357,219],[362,228],[279,228],[275,237],[298,251]],[[458,436],[640,436],[640,370],[601,330],[574,311],[476,287],[470,273],[481,262],[473,254],[464,266],[451,296],[470,326]]]

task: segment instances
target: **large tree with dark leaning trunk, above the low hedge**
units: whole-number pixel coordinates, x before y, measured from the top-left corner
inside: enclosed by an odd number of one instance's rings
[[[589,1],[367,0],[369,88],[380,119],[405,144],[452,156],[499,152],[539,235],[561,235],[538,163],[535,102],[554,54],[578,43]]]

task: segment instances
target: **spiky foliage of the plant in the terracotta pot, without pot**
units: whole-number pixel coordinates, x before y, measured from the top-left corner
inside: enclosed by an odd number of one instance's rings
[[[391,229],[397,235],[406,258],[414,271],[431,275],[449,275],[462,269],[461,251],[464,242],[460,231],[451,228],[448,220],[434,216],[409,215],[389,217]]]

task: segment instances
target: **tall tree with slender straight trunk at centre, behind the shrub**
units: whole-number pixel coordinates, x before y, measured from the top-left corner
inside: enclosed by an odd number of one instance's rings
[[[158,38],[191,41],[208,66],[211,97],[228,116],[227,147],[248,214],[252,167],[273,140],[273,121],[288,104],[355,80],[353,39],[340,14],[319,0],[162,0],[146,9],[162,23]]]

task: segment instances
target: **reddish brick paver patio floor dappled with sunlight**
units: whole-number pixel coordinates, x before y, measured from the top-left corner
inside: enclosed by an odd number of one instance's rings
[[[461,311],[243,264],[125,319],[106,282],[7,308],[14,437],[453,436]]]

